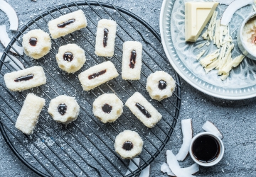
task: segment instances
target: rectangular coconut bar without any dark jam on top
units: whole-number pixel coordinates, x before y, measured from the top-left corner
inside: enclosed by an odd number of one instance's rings
[[[21,113],[16,120],[15,127],[26,135],[32,134],[45,103],[45,99],[33,93],[28,93],[21,108]]]

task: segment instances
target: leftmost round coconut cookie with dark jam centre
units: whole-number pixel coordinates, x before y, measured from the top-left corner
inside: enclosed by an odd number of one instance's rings
[[[39,29],[28,31],[28,33],[23,35],[22,46],[26,55],[39,59],[50,51],[50,36]]]

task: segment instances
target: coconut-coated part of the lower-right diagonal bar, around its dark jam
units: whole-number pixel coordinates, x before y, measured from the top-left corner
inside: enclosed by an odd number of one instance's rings
[[[139,103],[139,105],[137,105]],[[135,92],[125,103],[125,105],[132,111],[132,113],[140,120],[146,127],[154,127],[159,120],[161,120],[162,115],[154,108],[149,101],[142,96],[141,93]],[[149,116],[146,116],[143,112],[143,106],[144,110],[146,110]],[[141,108],[142,110],[140,110]]]

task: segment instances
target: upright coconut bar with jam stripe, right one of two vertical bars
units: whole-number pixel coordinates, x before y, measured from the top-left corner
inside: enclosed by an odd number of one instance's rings
[[[142,43],[127,41],[123,45],[122,79],[139,80],[142,69]]]

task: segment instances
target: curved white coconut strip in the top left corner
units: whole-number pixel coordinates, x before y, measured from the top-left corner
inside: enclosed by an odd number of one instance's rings
[[[0,4],[0,10],[4,11],[9,18],[10,30],[18,30],[18,17],[14,8],[4,0],[0,0]]]

